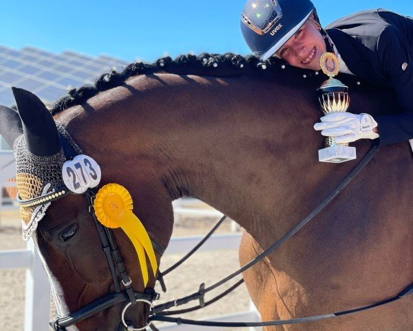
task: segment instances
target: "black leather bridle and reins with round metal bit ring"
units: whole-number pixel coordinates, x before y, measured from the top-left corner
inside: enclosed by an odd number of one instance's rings
[[[67,159],[71,159],[74,157],[74,152],[70,145],[65,141],[65,138],[63,135],[61,135],[61,143],[63,147],[63,151],[65,152],[65,156]],[[199,308],[202,308],[206,305],[209,305],[210,303],[213,303],[220,299],[221,297],[224,297],[224,295],[228,294],[231,292],[231,290],[237,288],[238,285],[240,285],[243,280],[237,281],[231,288],[228,290],[222,292],[219,294],[217,297],[213,298],[212,300],[208,301],[207,303],[204,301],[204,296],[207,292],[210,292],[211,290],[214,290],[215,288],[218,288],[220,285],[226,283],[227,281],[230,281],[237,275],[242,274],[245,270],[248,270],[251,268],[253,265],[256,263],[262,261],[265,257],[267,257],[269,254],[277,250],[280,245],[282,245],[285,241],[287,241],[290,237],[293,237],[295,233],[297,233],[301,228],[304,227],[309,221],[311,221],[321,210],[323,210],[332,199],[335,199],[337,195],[344,189],[346,186],[354,179],[354,177],[361,172],[361,170],[368,164],[368,162],[372,159],[374,154],[379,150],[379,146],[377,144],[372,144],[372,148],[367,152],[367,154],[361,159],[361,161],[357,164],[357,166],[348,174],[348,176],[341,181],[341,183],[337,186],[337,188],[324,199],[320,203],[320,205],[317,206],[308,216],[303,219],[301,222],[299,222],[293,229],[291,229],[289,232],[287,232],[281,239],[273,243],[269,248],[267,248],[264,252],[259,254],[255,259],[250,261],[249,263],[246,263],[242,268],[237,270],[236,272],[233,272],[233,274],[230,274],[228,277],[218,281],[217,283],[209,286],[208,288],[205,288],[204,283],[200,285],[200,288],[198,292],[195,292],[187,297],[182,297],[180,299],[176,299],[173,301],[169,301],[167,303],[163,303],[161,305],[153,305],[153,301],[159,299],[160,295],[156,293],[152,288],[146,288],[145,292],[136,292],[133,290],[131,287],[131,279],[128,276],[126,270],[125,270],[125,265],[123,264],[123,259],[120,257],[118,246],[116,245],[116,242],[114,241],[114,238],[112,236],[111,230],[109,228],[106,228],[104,225],[100,224],[98,221],[95,211],[94,211],[94,197],[96,192],[93,189],[87,190],[85,197],[87,197],[88,205],[89,205],[89,214],[91,214],[92,219],[94,220],[94,223],[96,225],[96,230],[98,231],[100,241],[102,243],[102,248],[103,251],[105,252],[105,255],[107,257],[107,262],[109,265],[109,270],[112,274],[112,279],[114,281],[115,289],[116,292],[107,294],[105,297],[102,297],[92,303],[89,303],[85,307],[76,310],[75,312],[72,312],[70,314],[67,314],[65,317],[58,317],[57,319],[54,320],[54,322],[51,322],[50,325],[54,329],[54,331],[62,331],[65,330],[65,328],[74,325],[78,323],[79,321],[83,321],[83,319],[87,319],[88,317],[91,317],[92,315],[96,314],[97,312],[100,312],[102,310],[105,310],[106,308],[112,307],[113,305],[116,305],[118,303],[125,303],[126,305],[123,308],[123,312],[121,314],[121,321],[125,328],[127,330],[145,330],[147,327],[150,327],[152,330],[157,330],[151,323],[153,321],[167,321],[171,323],[186,323],[186,324],[191,324],[191,325],[206,325],[206,326],[222,326],[222,327],[231,327],[231,328],[237,328],[237,327],[257,327],[257,326],[269,326],[269,325],[286,325],[286,324],[292,324],[292,323],[304,323],[304,322],[310,322],[310,321],[319,321],[322,319],[331,319],[334,317],[339,317],[343,316],[346,314],[354,314],[355,312],[360,312],[363,310],[368,310],[374,307],[377,307],[379,305],[385,305],[387,303],[396,301],[398,299],[401,299],[402,297],[405,297],[406,295],[413,294],[413,283],[408,285],[405,290],[403,290],[401,293],[397,294],[396,297],[390,298],[390,299],[385,299],[383,301],[380,301],[378,303],[374,303],[371,305],[365,305],[363,307],[359,308],[354,308],[351,310],[344,310],[341,312],[334,312],[331,314],[323,314],[323,315],[317,315],[313,317],[304,317],[304,318],[299,318],[299,319],[288,319],[288,320],[280,320],[280,321],[266,321],[266,322],[257,322],[257,323],[251,323],[251,322],[237,322],[237,323],[225,323],[225,322],[214,322],[214,321],[194,321],[194,320],[189,320],[189,319],[181,319],[181,318],[171,318],[167,317],[167,315],[172,315],[172,314],[178,314],[178,313],[183,313],[183,312],[189,312],[193,310],[197,310]],[[63,190],[64,191],[64,190]],[[60,191],[62,192],[62,191]],[[64,192],[63,194],[50,194],[48,193],[47,195],[47,201],[54,201],[57,199],[61,199],[61,197],[64,197],[67,194],[67,192]],[[45,196],[41,197],[36,197],[35,199],[31,199],[30,201],[21,201],[18,197],[18,201],[21,205],[24,205],[25,203],[30,203],[30,205],[41,205],[44,203]],[[43,201],[43,202],[42,202]],[[225,217],[223,217],[218,225],[224,221]],[[214,229],[218,228],[218,225],[215,225]],[[186,260],[193,252],[195,252],[196,249],[204,243],[204,241],[207,240],[207,238],[212,234],[213,231],[211,231],[205,239],[201,241],[200,244],[197,245],[195,249],[193,249],[189,254],[187,254],[186,257],[184,257],[181,261],[178,261],[176,265],[173,265],[173,267],[169,268],[166,272],[163,273],[163,275],[169,273],[171,270],[176,268],[178,265],[180,265],[184,260]],[[152,241],[153,248],[157,250],[161,255],[164,253],[164,250],[156,244],[154,241]],[[121,283],[123,285],[123,288],[125,290],[120,290],[120,283],[119,283],[119,278],[121,279]],[[165,289],[165,283],[162,278],[162,273],[158,272],[158,281],[160,281],[160,285],[162,286],[162,290]],[[190,301],[198,300],[199,305],[194,308],[189,308],[187,310],[178,310],[178,311],[173,311],[173,312],[165,312],[165,310],[168,310],[169,308],[172,307],[177,307],[179,305],[184,305],[186,303],[189,303]],[[129,325],[127,321],[125,321],[125,312],[126,310],[131,306],[134,305],[138,302],[143,302],[147,303],[151,307],[151,316],[149,317],[147,325],[141,328],[134,328],[133,325]]]

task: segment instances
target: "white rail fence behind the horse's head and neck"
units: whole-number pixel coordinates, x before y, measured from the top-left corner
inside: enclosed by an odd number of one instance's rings
[[[0,185],[1,189],[1,185]],[[0,205],[1,208],[1,205]],[[205,213],[205,210],[193,208],[180,208],[175,206],[176,214],[202,214],[203,216],[218,216],[217,211]],[[177,215],[178,216],[178,215]],[[202,237],[180,237],[172,238],[166,254],[184,254],[191,250]],[[200,251],[231,250],[240,245],[241,234],[217,234],[204,243]],[[25,291],[25,324],[24,331],[46,331],[50,330],[50,285],[47,281],[45,271],[41,266],[39,255],[32,241],[28,242],[27,250],[14,250],[0,252],[0,269],[26,269],[26,291]],[[213,317],[214,321],[260,321],[260,316],[251,305],[251,310],[239,314]],[[207,328],[193,325],[167,325],[160,327],[162,331],[182,330],[219,330],[219,328]]]

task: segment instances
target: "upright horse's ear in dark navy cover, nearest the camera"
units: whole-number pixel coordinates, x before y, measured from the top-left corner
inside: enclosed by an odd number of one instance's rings
[[[39,157],[50,157],[61,150],[59,133],[52,114],[34,94],[12,88],[17,103],[26,147]]]

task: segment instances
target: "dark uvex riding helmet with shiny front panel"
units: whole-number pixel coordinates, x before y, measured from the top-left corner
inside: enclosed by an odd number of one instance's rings
[[[248,0],[241,14],[241,30],[253,53],[265,60],[293,37],[311,14],[309,0]]]

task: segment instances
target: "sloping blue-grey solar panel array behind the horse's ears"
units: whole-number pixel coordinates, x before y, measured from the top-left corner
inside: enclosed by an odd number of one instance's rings
[[[12,86],[30,90],[50,103],[69,88],[92,83],[100,74],[127,64],[107,55],[91,57],[71,50],[56,54],[31,46],[15,50],[0,45],[0,104],[14,104]]]

